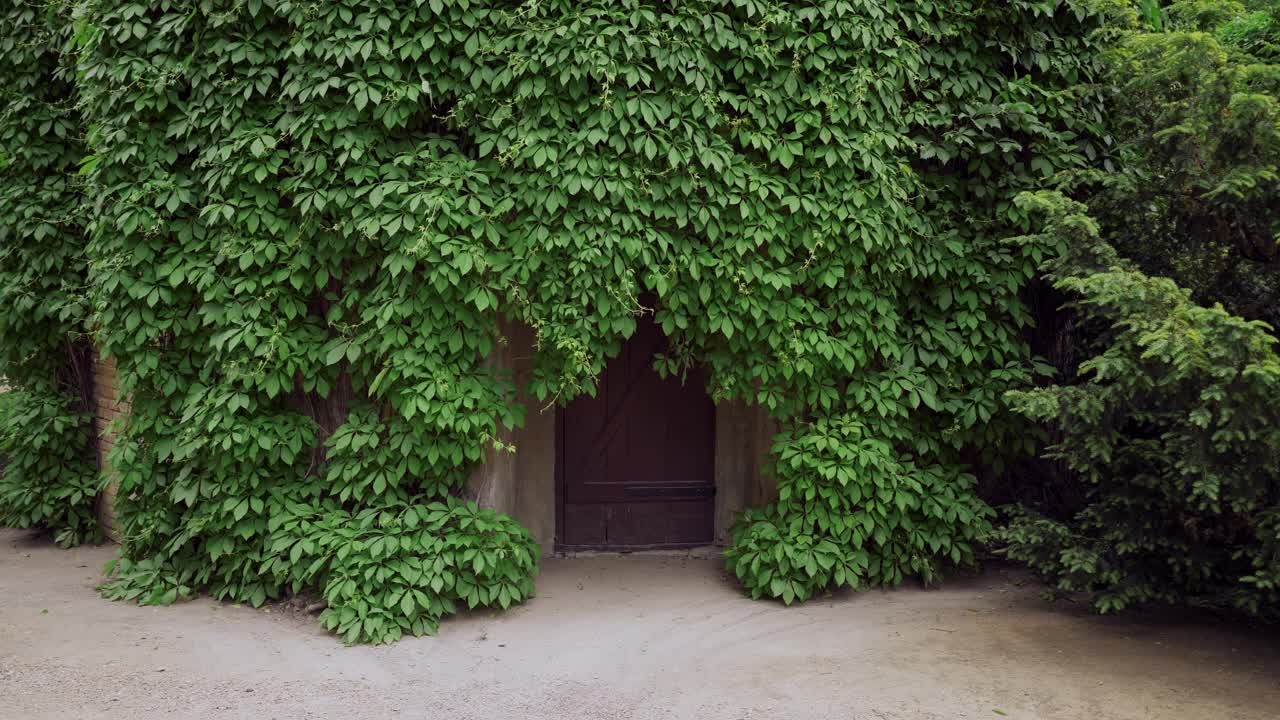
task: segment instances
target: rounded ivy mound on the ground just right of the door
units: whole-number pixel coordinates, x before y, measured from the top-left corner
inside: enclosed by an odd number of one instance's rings
[[[931,582],[991,529],[973,475],[918,465],[858,415],[783,432],[773,454],[778,502],[749,510],[726,552],[751,597]]]

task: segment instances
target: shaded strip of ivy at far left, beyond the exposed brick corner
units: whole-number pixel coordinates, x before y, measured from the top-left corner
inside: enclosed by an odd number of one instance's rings
[[[64,546],[101,537],[68,14],[0,9],[0,525],[45,528]]]

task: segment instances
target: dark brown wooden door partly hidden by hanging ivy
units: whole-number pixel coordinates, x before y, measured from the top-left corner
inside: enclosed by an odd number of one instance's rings
[[[559,544],[678,547],[714,534],[716,407],[703,377],[653,369],[666,337],[646,318],[611,360],[595,397],[559,414]]]

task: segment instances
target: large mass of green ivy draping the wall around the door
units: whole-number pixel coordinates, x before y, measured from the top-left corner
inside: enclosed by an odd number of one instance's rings
[[[83,0],[108,594],[312,588],[348,641],[521,601],[535,544],[458,500],[527,411],[499,319],[545,405],[644,313],[781,428],[753,596],[972,561],[1030,375],[1000,238],[1093,152],[1093,5]]]

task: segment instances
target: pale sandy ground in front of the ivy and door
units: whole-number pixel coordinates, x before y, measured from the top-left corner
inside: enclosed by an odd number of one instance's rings
[[[344,648],[279,606],[100,600],[113,552],[0,530],[0,719],[1280,717],[1276,633],[1096,618],[1011,569],[785,609],[709,559],[557,559],[511,612]]]

